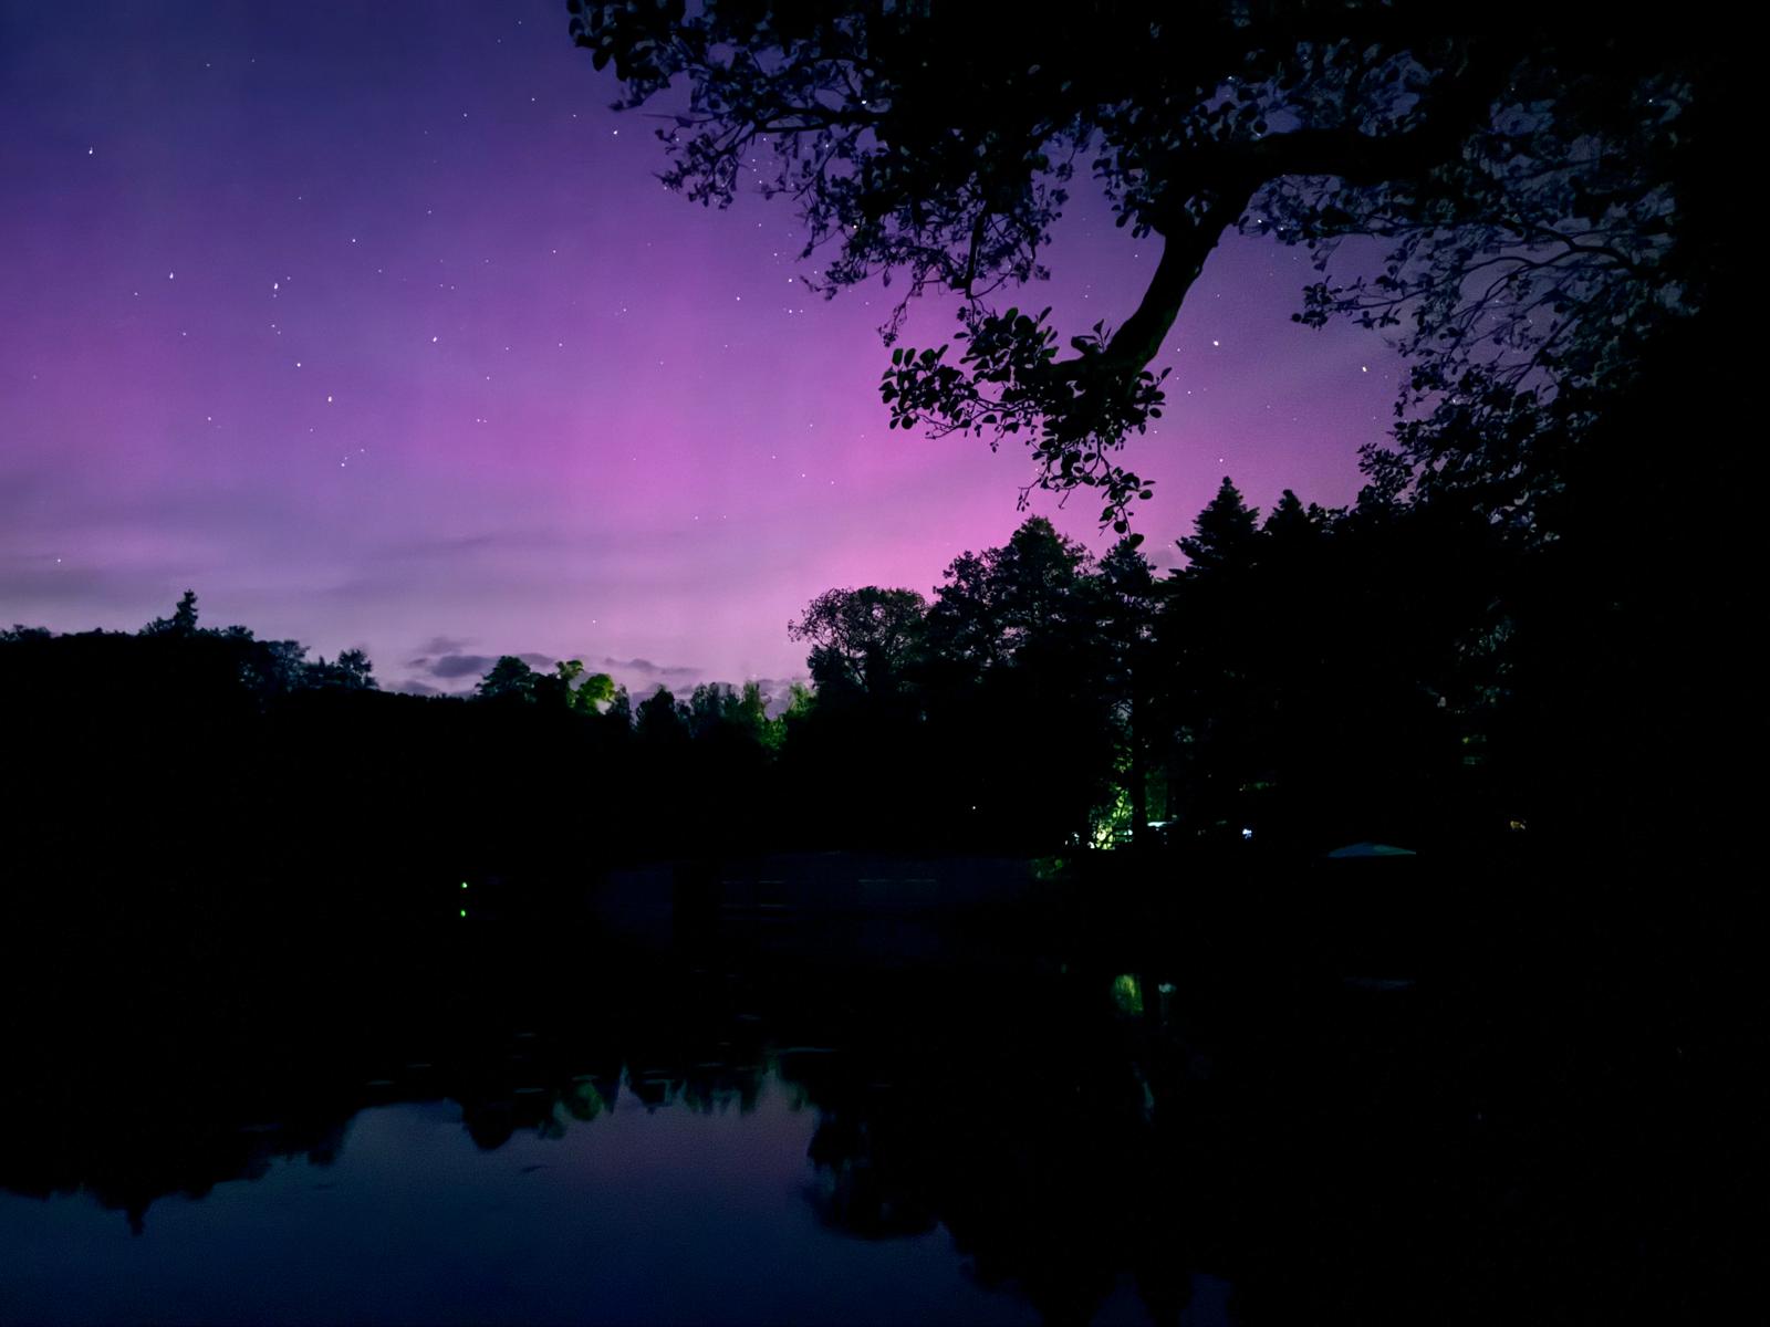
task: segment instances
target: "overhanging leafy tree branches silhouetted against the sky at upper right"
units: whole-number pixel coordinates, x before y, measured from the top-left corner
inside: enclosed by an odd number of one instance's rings
[[[789,196],[827,295],[906,278],[887,341],[913,295],[965,297],[956,352],[894,349],[894,426],[1020,437],[1034,485],[1099,490],[1120,531],[1149,485],[1119,449],[1159,416],[1150,363],[1228,230],[1313,249],[1299,320],[1395,331],[1411,373],[1366,455],[1379,488],[1453,485],[1492,515],[1561,483],[1559,451],[1736,262],[1713,242],[1733,57],[1676,25],[1425,0],[568,9],[618,106],[687,83],[658,131],[669,188],[724,207],[754,173]],[[1046,276],[1078,168],[1161,260],[1117,326],[1060,349],[1050,310],[993,297]],[[1381,260],[1342,269],[1352,237]]]

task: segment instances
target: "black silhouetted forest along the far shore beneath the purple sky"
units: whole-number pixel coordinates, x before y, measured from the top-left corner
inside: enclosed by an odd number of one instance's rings
[[[1030,518],[931,602],[812,600],[812,687],[773,715],[754,685],[635,699],[513,656],[473,699],[386,694],[358,651],[202,626],[195,594],[133,635],[19,626],[11,851],[104,897],[184,872],[389,906],[789,848],[1731,853],[1740,531],[1630,462],[1678,409],[1612,412],[1528,527],[1379,487],[1260,513],[1225,479],[1159,575],[1136,536],[1096,559]]]

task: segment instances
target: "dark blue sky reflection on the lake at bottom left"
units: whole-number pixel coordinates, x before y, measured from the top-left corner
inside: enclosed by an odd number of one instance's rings
[[[563,1115],[563,1111],[561,1111]],[[478,1148],[450,1101],[377,1106],[327,1164],[152,1205],[0,1198],[12,1322],[1037,1322],[943,1228],[846,1239],[820,1217],[818,1111],[646,1108]]]

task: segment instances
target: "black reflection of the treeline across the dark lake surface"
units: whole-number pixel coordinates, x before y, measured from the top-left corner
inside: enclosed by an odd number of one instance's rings
[[[816,1111],[805,1201],[828,1230],[943,1228],[977,1281],[1050,1322],[1087,1322],[1127,1279],[1177,1322],[1197,1274],[1248,1323],[1476,1322],[1519,1297],[1554,1320],[1667,1265],[1648,1208],[1676,1210],[1676,1189],[1651,1157],[1607,1161],[1643,1101],[1678,1118],[1623,1024],[1582,1026],[1579,1060],[1570,1016],[1535,1030],[1540,1010],[1420,989],[712,957],[609,961],[572,998],[517,948],[372,998],[278,1003],[267,978],[181,1003],[166,980],[129,1016],[101,1001],[112,1032],[51,1000],[11,1044],[0,1185],[85,1191],[140,1230],[165,1196],[329,1164],[365,1106],[458,1102],[496,1150],[596,1129],[627,1097],[742,1115],[782,1090]],[[168,1001],[175,1024],[150,1012]],[[1620,1247],[1648,1253],[1620,1270]]]

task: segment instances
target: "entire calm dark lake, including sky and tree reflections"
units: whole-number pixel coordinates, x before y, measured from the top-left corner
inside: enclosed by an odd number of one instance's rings
[[[0,1322],[1574,1322],[1676,1297],[1685,1104],[1651,1009],[1214,948],[766,909],[76,948],[11,991]]]

